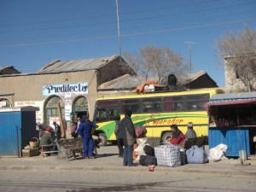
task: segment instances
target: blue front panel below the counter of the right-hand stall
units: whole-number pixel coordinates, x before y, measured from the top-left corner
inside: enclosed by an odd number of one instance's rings
[[[247,156],[250,156],[248,128],[209,127],[208,138],[209,148],[214,148],[220,143],[227,145],[227,157],[239,157],[240,150],[245,150]]]

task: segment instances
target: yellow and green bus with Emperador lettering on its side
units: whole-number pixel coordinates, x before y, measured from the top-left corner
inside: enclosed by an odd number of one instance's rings
[[[99,125],[96,135],[102,139],[102,146],[116,140],[113,119],[117,115],[122,119],[125,109],[129,108],[134,125],[144,126],[147,137],[161,137],[163,143],[168,143],[172,138],[170,125],[177,124],[185,133],[190,121],[197,136],[207,136],[205,103],[212,95],[219,93],[224,91],[215,88],[99,97],[93,119]]]

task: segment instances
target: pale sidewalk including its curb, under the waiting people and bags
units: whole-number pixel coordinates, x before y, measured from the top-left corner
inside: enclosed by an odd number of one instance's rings
[[[99,158],[95,160],[58,160],[57,156],[0,158],[0,170],[82,170],[82,171],[131,171],[148,172],[146,166],[122,166],[116,146],[98,149]],[[247,166],[250,164],[249,166]],[[256,159],[246,160],[241,166],[240,160],[210,161],[207,164],[187,164],[184,166],[156,166],[154,172],[198,172],[232,176],[256,176]]]

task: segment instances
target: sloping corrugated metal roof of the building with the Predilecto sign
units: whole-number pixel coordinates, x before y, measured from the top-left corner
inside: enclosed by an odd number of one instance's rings
[[[108,64],[117,58],[118,55],[112,55],[108,57],[94,58],[94,59],[82,59],[73,61],[60,61],[54,60],[49,64],[42,67],[37,73],[60,73],[71,71],[87,71],[97,69]]]

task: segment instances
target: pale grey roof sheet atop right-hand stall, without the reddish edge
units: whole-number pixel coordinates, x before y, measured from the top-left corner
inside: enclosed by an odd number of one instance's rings
[[[227,102],[247,99],[256,99],[256,92],[216,94],[210,98],[209,102]]]

